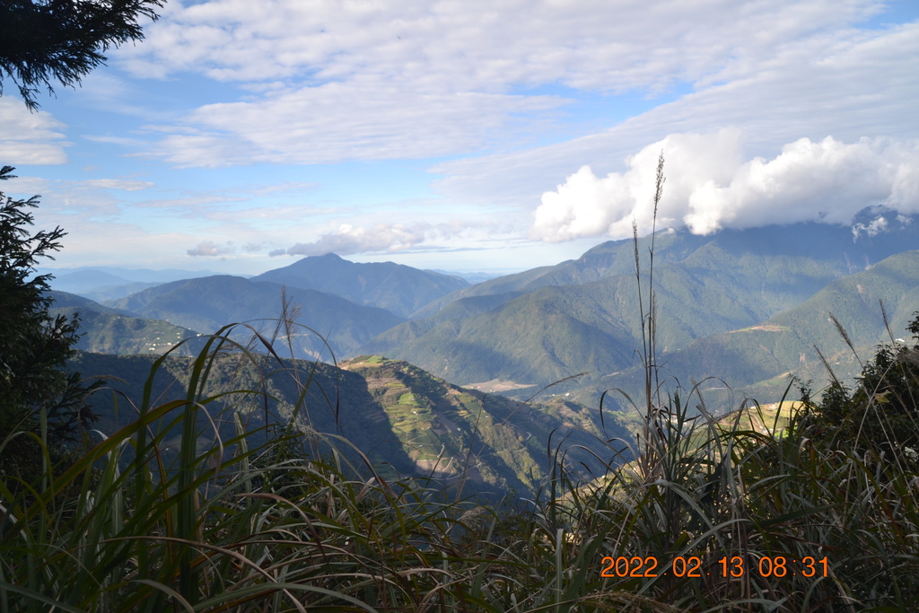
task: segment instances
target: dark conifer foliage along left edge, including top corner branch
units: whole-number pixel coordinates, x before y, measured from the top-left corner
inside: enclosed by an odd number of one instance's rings
[[[0,1],[0,96],[11,79],[28,108],[38,86],[74,86],[100,63],[103,51],[141,40],[139,20],[155,19],[164,0]],[[0,168],[0,180],[13,168]],[[47,275],[35,276],[40,257],[61,248],[60,227],[28,233],[38,198],[17,200],[0,191],[0,472],[28,478],[40,449],[54,450],[94,417],[89,388],[64,369],[74,353],[78,320],[51,317]],[[40,468],[40,462],[38,462]]]

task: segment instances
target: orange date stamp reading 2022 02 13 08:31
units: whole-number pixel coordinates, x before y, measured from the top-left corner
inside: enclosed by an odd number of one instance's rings
[[[762,577],[825,577],[829,574],[829,562],[826,556],[818,560],[813,556],[804,556],[800,560],[786,556],[763,556],[750,565],[754,572]],[[659,570],[660,569],[660,570]],[[715,575],[740,578],[746,573],[747,564],[741,556],[722,556],[715,563]],[[702,577],[711,575],[703,569],[702,559],[698,556],[676,556],[669,565],[662,565],[654,556],[606,556],[601,560],[601,577],[646,577],[653,578],[659,574],[671,573],[676,577]]]

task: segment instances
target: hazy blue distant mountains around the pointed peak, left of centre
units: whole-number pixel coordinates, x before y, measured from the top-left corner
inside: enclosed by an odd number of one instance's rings
[[[130,278],[148,279],[173,278],[187,272],[108,270],[122,272]],[[284,283],[288,287],[289,304],[299,310],[300,314],[294,317],[301,324],[294,330],[295,355],[325,360],[346,355],[374,335],[400,324],[404,317],[397,312],[414,311],[428,301],[469,285],[458,277],[412,267],[392,263],[356,264],[336,255],[324,255],[303,258],[259,278],[210,275],[171,282],[145,282],[143,286],[151,287],[108,300],[108,307],[62,293],[57,294],[57,306],[59,312],[81,312],[85,336],[80,348],[93,351],[165,350],[162,343],[165,338],[175,343],[189,335],[212,334],[223,325],[234,323],[252,323],[261,333],[271,337],[276,324],[265,320],[277,320],[280,315],[282,286],[265,278],[276,278]],[[117,283],[119,279],[127,280],[107,270],[84,269],[63,275],[61,282],[52,280],[52,287],[96,287],[96,283]],[[331,288],[336,292],[320,291],[311,286]],[[123,289],[127,286],[111,287]],[[94,295],[92,291],[86,294]],[[391,310],[374,306],[377,304]],[[118,314],[111,312],[109,307],[114,307]],[[123,332],[121,341],[113,338],[121,334],[118,330]],[[244,328],[240,328],[239,333],[237,339],[241,341],[245,341],[244,336],[251,335],[251,331]]]

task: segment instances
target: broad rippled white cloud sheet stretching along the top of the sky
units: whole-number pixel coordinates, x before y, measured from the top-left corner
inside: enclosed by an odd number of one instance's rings
[[[848,27],[880,7],[212,0],[170,3],[142,45],[115,56],[138,76],[202,74],[253,93],[160,126],[153,153],[174,165],[410,159],[515,149],[522,116],[529,128],[554,121],[564,103],[533,88],[647,93],[754,78],[801,45],[857,38]]]

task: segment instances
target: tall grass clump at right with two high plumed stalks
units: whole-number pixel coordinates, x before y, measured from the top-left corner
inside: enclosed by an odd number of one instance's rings
[[[663,166],[662,155],[655,218]],[[547,503],[551,528],[570,531],[575,559],[590,561],[587,571],[572,569],[573,577],[588,585],[602,564],[611,576],[597,593],[626,592],[688,610],[915,607],[915,464],[910,471],[891,458],[891,440],[847,448],[838,438],[815,440],[800,419],[791,430],[780,431],[777,417],[769,427],[755,402],[717,419],[698,385],[669,392],[655,349],[653,233],[642,274],[634,224],[633,231],[636,279],[640,289],[647,283],[639,304],[645,391],[638,400],[620,393],[642,414],[642,427],[630,448],[636,460],[617,462],[611,447],[603,479],[568,482],[570,473],[561,471],[567,494]],[[870,403],[875,393],[853,397]]]

